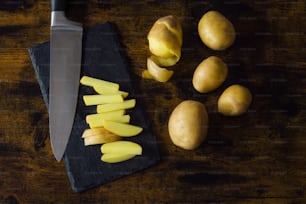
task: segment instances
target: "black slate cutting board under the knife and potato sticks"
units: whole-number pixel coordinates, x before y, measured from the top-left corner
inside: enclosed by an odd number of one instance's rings
[[[49,104],[49,47],[49,42],[46,42],[29,48],[47,107]],[[75,121],[64,155],[67,174],[72,189],[76,192],[143,170],[160,159],[155,137],[150,131],[149,123],[142,109],[141,98],[131,81],[124,49],[119,43],[117,30],[113,24],[106,22],[85,30],[81,76],[83,75],[117,82],[121,90],[130,93],[129,98],[137,99],[136,107],[128,113],[131,115],[131,124],[139,125],[144,130],[140,135],[126,138],[126,140],[140,144],[143,147],[143,155],[125,162],[107,164],[100,160],[100,145],[84,146],[81,136],[83,131],[89,128],[85,117],[87,114],[95,113],[95,107],[86,107],[82,97],[95,93],[90,87],[80,85]]]

